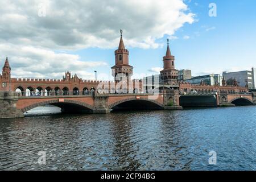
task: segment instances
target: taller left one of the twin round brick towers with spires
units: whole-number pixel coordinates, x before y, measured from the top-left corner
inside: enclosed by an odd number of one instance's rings
[[[127,82],[131,79],[133,75],[133,67],[129,65],[129,51],[125,49],[125,44],[123,43],[122,30],[121,38],[119,42],[119,47],[115,51],[115,65],[112,69],[112,76],[115,81],[125,81],[123,78],[127,79]]]

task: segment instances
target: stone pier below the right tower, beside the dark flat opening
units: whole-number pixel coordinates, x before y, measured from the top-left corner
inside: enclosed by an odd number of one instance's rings
[[[179,90],[164,90],[163,106],[165,110],[182,109],[179,102]]]

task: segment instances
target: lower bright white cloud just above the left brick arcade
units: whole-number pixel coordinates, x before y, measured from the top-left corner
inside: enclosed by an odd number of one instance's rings
[[[0,54],[11,55],[9,62],[12,77],[61,78],[69,70],[81,78],[94,79],[93,71],[86,72],[86,68],[108,66],[104,61],[82,61],[79,55],[55,53],[30,46],[0,44]]]

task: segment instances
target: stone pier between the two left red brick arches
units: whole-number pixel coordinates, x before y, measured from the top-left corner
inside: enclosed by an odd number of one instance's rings
[[[108,96],[94,96],[94,110],[93,113],[110,113],[108,106]]]

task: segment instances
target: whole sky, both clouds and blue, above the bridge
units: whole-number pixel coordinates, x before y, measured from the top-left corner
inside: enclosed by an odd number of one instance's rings
[[[255,0],[3,0],[0,58],[9,56],[13,77],[61,78],[69,70],[90,80],[96,70],[110,80],[122,28],[134,78],[158,74],[167,38],[176,69],[193,76],[249,70],[256,67],[255,7]]]

